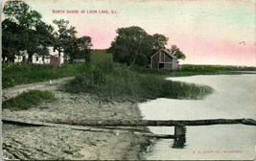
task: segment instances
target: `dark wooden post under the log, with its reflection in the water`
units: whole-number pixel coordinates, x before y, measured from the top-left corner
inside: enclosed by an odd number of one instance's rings
[[[173,149],[184,149],[186,143],[186,127],[175,127],[175,141]]]

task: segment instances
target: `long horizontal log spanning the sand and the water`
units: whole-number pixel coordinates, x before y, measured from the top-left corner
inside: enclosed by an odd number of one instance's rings
[[[27,124],[31,126],[54,126],[70,125],[83,127],[185,127],[185,126],[212,126],[212,125],[231,125],[243,124],[256,126],[253,119],[206,119],[206,120],[54,120],[51,123],[20,121],[15,119],[3,118],[7,124],[16,122],[17,124]]]

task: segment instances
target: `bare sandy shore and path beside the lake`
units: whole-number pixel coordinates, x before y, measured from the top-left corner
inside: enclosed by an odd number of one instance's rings
[[[70,79],[70,78],[69,78]],[[3,109],[3,118],[48,122],[56,119],[120,120],[141,119],[137,104],[107,101],[92,95],[69,94],[57,90],[63,81],[21,85],[3,90],[3,100],[28,89],[53,91],[58,100],[29,110]],[[138,135],[145,127],[22,127],[3,125],[3,156],[6,159],[47,160],[129,160],[142,159],[149,138]]]

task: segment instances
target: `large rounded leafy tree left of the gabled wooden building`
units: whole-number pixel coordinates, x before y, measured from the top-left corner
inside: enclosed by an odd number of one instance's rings
[[[107,49],[108,53],[112,53],[113,60],[145,66],[151,53],[151,35],[137,26],[120,28],[116,33],[118,35]]]

